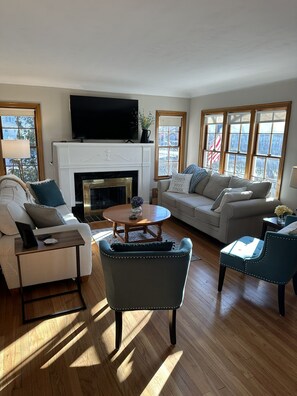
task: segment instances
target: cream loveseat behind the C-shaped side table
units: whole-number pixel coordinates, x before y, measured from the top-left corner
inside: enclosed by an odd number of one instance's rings
[[[29,203],[37,210],[40,224],[54,223],[55,217],[61,219],[61,225],[35,228],[28,215],[25,204]],[[46,209],[46,208],[45,208]],[[19,287],[17,259],[14,254],[14,240],[19,237],[15,221],[30,224],[35,235],[52,234],[66,230],[78,230],[85,245],[80,247],[81,275],[92,271],[92,236],[88,224],[79,223],[66,205],[48,208],[47,218],[43,219],[43,208],[35,205],[35,199],[27,186],[15,176],[0,177],[0,266],[9,289]],[[34,285],[76,276],[75,249],[61,249],[39,254],[22,256],[23,285]]]

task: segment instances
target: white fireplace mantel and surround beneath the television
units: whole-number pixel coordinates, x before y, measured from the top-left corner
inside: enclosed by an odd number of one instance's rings
[[[138,171],[138,195],[149,203],[152,148],[141,143],[53,143],[55,178],[66,204],[75,206],[75,173],[126,170]]]

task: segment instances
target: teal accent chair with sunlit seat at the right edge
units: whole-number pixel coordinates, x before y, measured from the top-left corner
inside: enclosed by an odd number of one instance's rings
[[[296,221],[288,216],[286,225]],[[220,252],[218,291],[223,288],[226,268],[278,285],[278,307],[285,315],[285,286],[292,279],[297,294],[297,235],[267,231],[264,240],[244,236]]]

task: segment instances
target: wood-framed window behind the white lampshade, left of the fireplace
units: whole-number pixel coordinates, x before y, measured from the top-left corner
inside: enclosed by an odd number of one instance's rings
[[[3,140],[30,141],[30,158],[2,156],[0,174],[15,174],[24,181],[44,179],[39,104],[0,102],[0,135]]]

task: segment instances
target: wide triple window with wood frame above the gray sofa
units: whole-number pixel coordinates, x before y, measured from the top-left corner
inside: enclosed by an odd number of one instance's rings
[[[279,197],[291,102],[203,110],[199,165],[226,175],[269,180]]]

